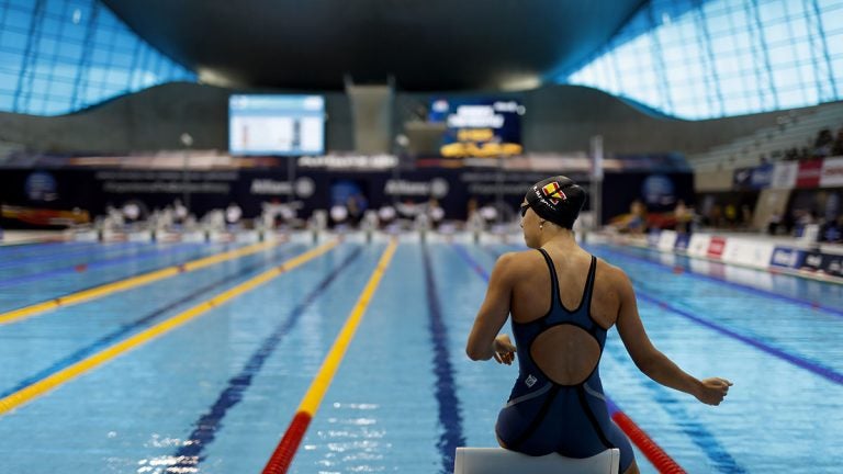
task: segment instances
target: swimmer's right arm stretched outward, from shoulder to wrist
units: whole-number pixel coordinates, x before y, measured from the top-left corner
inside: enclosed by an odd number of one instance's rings
[[[672,360],[653,346],[647,336],[638,314],[636,293],[629,278],[618,271],[617,287],[620,293],[620,312],[617,327],[623,346],[638,369],[664,386],[685,392],[697,398],[704,391],[702,382],[679,369]]]

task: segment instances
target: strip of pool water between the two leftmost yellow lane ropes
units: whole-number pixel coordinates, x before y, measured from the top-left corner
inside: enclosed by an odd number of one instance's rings
[[[40,318],[0,326],[0,357],[16,363],[0,372],[4,396],[54,375],[87,357],[137,334],[179,309],[231,287],[281,259],[303,251],[284,246],[247,257],[233,266],[200,270],[142,289],[69,306]],[[149,297],[149,295],[155,295]],[[26,354],[22,358],[22,354]]]

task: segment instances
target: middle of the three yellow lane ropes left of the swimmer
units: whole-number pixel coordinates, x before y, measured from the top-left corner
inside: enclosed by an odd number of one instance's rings
[[[0,398],[0,415],[3,415],[13,408],[16,408],[23,404],[29,403],[33,398],[41,396],[72,379],[76,379],[77,376],[114,359],[115,357],[126,351],[135,349],[138,346],[149,342],[150,340],[159,336],[162,336],[184,325],[186,323],[192,319],[195,319],[196,317],[206,313],[209,309],[213,309],[214,307],[223,305],[228,301],[241,294],[245,294],[256,289],[257,286],[274,279],[281,273],[288,272],[310,260],[313,260],[314,258],[327,252],[328,250],[333,249],[336,246],[337,246],[337,241],[335,240],[335,241],[324,244],[315,249],[308,250],[297,257],[294,257],[285,261],[284,263],[276,268],[267,270],[258,274],[257,276],[254,276],[222,293],[218,293],[216,294],[216,296],[213,296],[210,300],[205,300],[204,302],[199,303],[195,306],[182,313],[179,313],[178,315],[169,319],[166,319],[142,332],[138,332],[106,349],[103,349],[102,351],[68,366],[67,369],[64,369],[9,396]]]

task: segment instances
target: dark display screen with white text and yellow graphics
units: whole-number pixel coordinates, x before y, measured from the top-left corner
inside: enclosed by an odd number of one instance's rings
[[[428,121],[445,122],[445,157],[493,158],[520,155],[525,108],[512,99],[434,100]]]

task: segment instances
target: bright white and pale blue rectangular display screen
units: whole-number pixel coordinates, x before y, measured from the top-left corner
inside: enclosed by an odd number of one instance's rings
[[[233,155],[322,155],[325,98],[233,94],[228,98]]]

